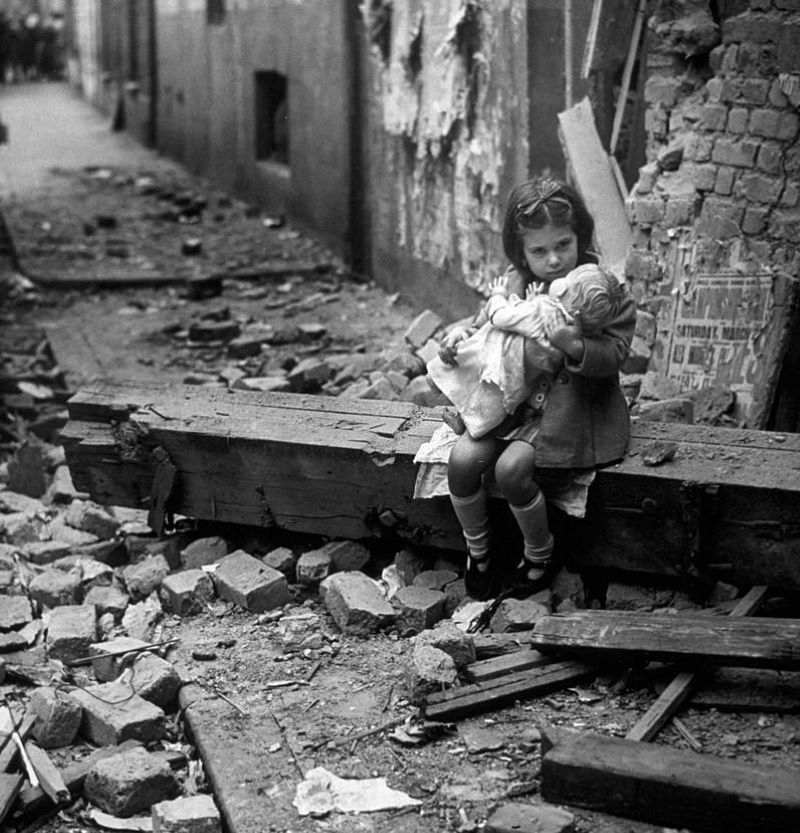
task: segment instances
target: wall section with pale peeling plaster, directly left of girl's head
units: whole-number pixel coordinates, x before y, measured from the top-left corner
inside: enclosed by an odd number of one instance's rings
[[[369,269],[449,316],[505,265],[504,202],[527,172],[526,5],[361,4]]]

